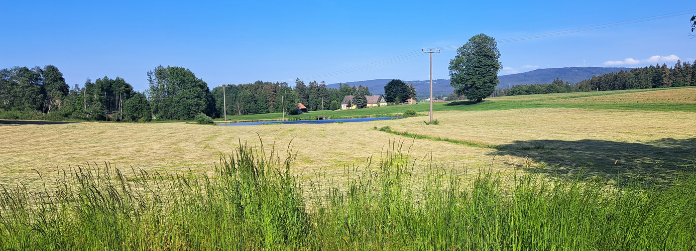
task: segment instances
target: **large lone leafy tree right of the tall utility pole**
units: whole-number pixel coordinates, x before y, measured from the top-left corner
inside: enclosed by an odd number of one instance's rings
[[[457,95],[481,102],[498,86],[500,51],[496,40],[486,34],[471,37],[450,60],[450,81]]]

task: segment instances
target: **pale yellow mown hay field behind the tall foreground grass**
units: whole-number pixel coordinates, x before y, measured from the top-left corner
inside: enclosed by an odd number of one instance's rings
[[[696,88],[669,90],[640,90],[587,92],[553,95],[500,97],[483,104],[436,104],[439,108],[471,109],[472,111],[437,111],[439,125],[425,126],[427,117],[406,118],[344,124],[272,124],[242,127],[203,127],[185,123],[104,123],[104,122],[14,122],[0,123],[3,131],[0,144],[0,183],[31,180],[35,171],[51,174],[68,165],[111,162],[120,168],[161,171],[209,170],[217,163],[219,154],[230,152],[242,142],[276,147],[292,145],[299,151],[294,170],[311,174],[315,170],[341,169],[343,165],[362,163],[369,156],[379,154],[389,139],[406,140],[374,130],[391,127],[395,131],[432,137],[466,140],[491,145],[529,147],[544,145],[552,151],[514,151],[480,147],[466,147],[425,139],[409,139],[411,155],[426,156],[438,165],[457,168],[493,166],[496,170],[512,172],[527,159],[544,162],[550,168],[602,169],[598,175],[616,175],[660,165],[670,175],[686,168],[693,158],[696,113],[680,111],[689,107]],[[649,95],[654,93],[654,95]],[[581,96],[581,97],[579,97]],[[596,100],[600,99],[601,100]],[[654,100],[657,98],[665,101]],[[579,102],[578,99],[583,99]],[[592,99],[594,102],[584,99]],[[631,100],[633,109],[607,109],[603,100]],[[677,111],[640,111],[643,102],[672,103]],[[565,103],[562,103],[564,102]],[[496,103],[519,108],[487,109],[484,105]],[[590,106],[603,108],[527,108],[532,104],[559,103],[562,106]],[[422,106],[422,107],[421,107]],[[427,104],[359,109],[368,113],[378,109],[427,108]],[[464,107],[464,108],[463,108]],[[475,110],[483,107],[481,110]],[[654,108],[649,106],[648,108]],[[357,112],[347,111],[347,112]],[[379,113],[394,111],[379,111]],[[313,112],[314,113],[314,112]],[[353,114],[354,115],[354,114]],[[683,146],[683,147],[679,147]],[[671,147],[671,148],[670,148]],[[675,149],[672,149],[675,148]],[[591,156],[591,157],[588,157]],[[653,172],[653,174],[655,174]],[[31,183],[30,183],[31,184]]]

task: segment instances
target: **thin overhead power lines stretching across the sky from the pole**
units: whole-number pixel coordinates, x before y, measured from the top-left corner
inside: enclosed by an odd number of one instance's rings
[[[535,35],[525,35],[525,36],[516,37],[516,38],[506,38],[506,39],[498,40],[497,42],[498,42],[498,43],[516,42],[516,41],[520,41],[520,40],[529,40],[529,39],[535,39],[535,38],[545,38],[545,37],[550,37],[550,36],[553,36],[553,35],[564,35],[564,34],[568,34],[568,33],[576,33],[576,32],[582,32],[582,31],[591,31],[591,30],[596,30],[596,29],[604,29],[604,28],[609,28],[609,27],[613,27],[613,26],[620,26],[620,25],[626,25],[626,24],[635,24],[635,23],[638,23],[638,22],[647,22],[647,21],[652,21],[652,20],[656,20],[656,19],[665,19],[665,18],[669,18],[669,17],[677,17],[677,16],[680,16],[680,15],[684,15],[684,14],[686,14],[686,13],[693,12],[694,10],[696,10],[696,9],[683,10],[683,11],[678,11],[678,12],[676,12],[676,13],[667,13],[667,14],[663,14],[663,15],[654,15],[654,16],[650,16],[650,17],[641,17],[641,18],[636,18],[636,19],[629,19],[629,20],[620,21],[620,22],[611,22],[611,23],[607,23],[607,24],[597,24],[597,25],[593,25],[593,26],[585,26],[585,27],[580,27],[580,28],[575,28],[575,29],[567,29],[567,30],[562,30],[562,31],[553,31],[553,32],[548,32],[548,33],[539,33],[539,34],[535,34]],[[461,47],[461,45],[451,45],[451,46],[446,46],[446,47],[440,47],[440,49],[441,49],[441,50],[450,50],[450,49],[457,49],[457,48],[459,48],[459,47]],[[329,72],[329,73],[326,73],[326,74],[319,74],[319,75],[315,75],[315,76],[307,76],[307,77],[303,77],[303,78],[301,78],[301,79],[326,78],[326,77],[329,77],[329,76],[337,76],[337,75],[347,74],[347,73],[351,73],[351,72],[358,72],[358,71],[361,71],[361,70],[367,70],[367,69],[370,69],[370,68],[379,67],[379,66],[382,66],[382,65],[388,65],[388,64],[390,64],[390,63],[396,63],[396,62],[399,62],[399,61],[402,61],[402,60],[406,60],[406,59],[410,59],[410,58],[415,58],[415,57],[417,57],[417,56],[423,56],[423,55],[420,53],[420,51],[411,51],[411,52],[406,53],[406,54],[402,54],[402,55],[395,56],[395,57],[392,57],[392,58],[387,58],[387,59],[384,59],[384,60],[379,60],[379,61],[377,61],[377,62],[369,63],[369,64],[367,64],[367,65],[361,65],[361,66],[357,66],[357,67],[351,67],[351,68],[348,68],[348,69],[345,69],[345,70],[340,70],[340,71],[336,71],[336,72]]]

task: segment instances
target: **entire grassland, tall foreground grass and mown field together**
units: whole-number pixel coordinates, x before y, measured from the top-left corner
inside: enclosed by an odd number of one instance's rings
[[[429,125],[0,120],[0,249],[694,250],[695,90],[445,102]]]

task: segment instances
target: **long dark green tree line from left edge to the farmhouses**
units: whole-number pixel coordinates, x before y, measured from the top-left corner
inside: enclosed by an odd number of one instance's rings
[[[306,84],[296,79],[288,83],[256,81],[240,85],[218,86],[209,90],[207,83],[184,67],[159,65],[147,73],[149,88],[136,92],[124,79],[109,76],[72,88],[54,65],[43,68],[13,67],[0,70],[0,118],[22,120],[111,120],[141,121],[192,120],[201,113],[211,118],[227,114],[294,114],[297,103],[309,111],[338,110],[343,98],[370,95],[363,86],[341,83],[327,88],[326,83]],[[404,84],[405,85],[405,84]],[[223,90],[224,88],[224,90]],[[224,98],[223,98],[224,93]],[[365,102],[366,103],[366,100]],[[358,108],[366,104],[358,105]]]

